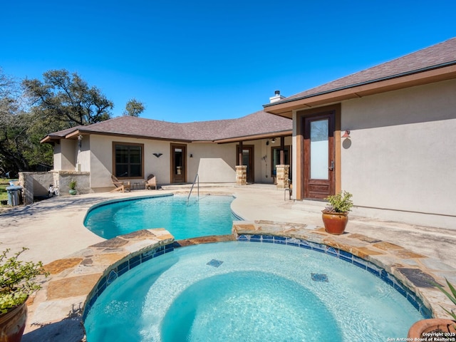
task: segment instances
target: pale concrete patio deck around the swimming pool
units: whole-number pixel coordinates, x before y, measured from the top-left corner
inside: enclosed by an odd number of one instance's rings
[[[51,264],[58,259],[68,260],[68,256],[78,254],[88,246],[105,241],[83,226],[87,209],[93,204],[108,199],[176,191],[182,190],[170,188],[170,190],[136,190],[115,194],[53,197],[26,207],[15,207],[0,214],[1,247],[3,249],[11,248],[13,252],[21,247],[28,247],[28,251],[24,253],[24,259],[41,260],[43,264]],[[346,245],[350,243],[350,237],[355,237],[358,249],[371,248],[377,252],[378,249],[383,249],[392,254],[394,258],[398,258],[388,259],[387,256],[385,261],[387,264],[403,263],[403,266],[408,268],[416,267],[428,271],[438,281],[442,281],[446,277],[453,284],[456,283],[456,269],[454,268],[456,265],[456,227],[455,230],[439,229],[351,216],[347,234],[340,237],[328,237],[328,234],[321,229],[320,211],[324,207],[324,202],[318,205],[320,203],[308,204],[286,200],[284,190],[277,190],[270,185],[247,185],[245,187],[213,185],[200,189],[200,195],[207,193],[233,194],[236,197],[232,203],[233,211],[249,222],[260,220],[287,222],[288,225],[279,224],[281,227],[285,227],[284,229],[289,229],[286,227],[293,223],[305,225],[305,232],[299,232],[299,234],[311,234],[315,239],[331,240],[331,243],[334,244]],[[362,246],[361,242],[363,242]],[[368,246],[375,242],[383,243],[374,247]],[[430,296],[434,296],[434,293]],[[438,293],[435,296],[437,298],[431,300],[440,302],[444,299],[439,297]],[[36,316],[38,314],[35,312],[36,307],[42,300],[41,294],[38,293],[33,304],[29,306],[28,325],[23,341],[80,341],[81,331],[68,331],[68,324],[59,324],[51,317],[48,317],[49,320],[46,321],[43,316]],[[68,317],[71,318],[71,314]],[[78,330],[79,318],[76,312],[73,318],[76,321],[72,327],[76,327]],[[53,323],[52,331],[42,328],[50,323]],[[41,331],[43,334],[46,333],[46,337],[40,336]],[[75,335],[71,336],[71,333]]]

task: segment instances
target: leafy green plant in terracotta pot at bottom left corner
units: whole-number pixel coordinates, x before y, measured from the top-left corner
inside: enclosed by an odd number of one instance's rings
[[[26,251],[8,257],[9,249],[0,254],[0,336],[1,341],[19,342],[26,326],[28,296],[41,288],[36,276],[48,274],[41,261],[21,261],[19,256]]]

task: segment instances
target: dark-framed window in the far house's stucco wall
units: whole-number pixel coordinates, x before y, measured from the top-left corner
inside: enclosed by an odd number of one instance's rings
[[[144,178],[144,145],[113,142],[115,177]]]

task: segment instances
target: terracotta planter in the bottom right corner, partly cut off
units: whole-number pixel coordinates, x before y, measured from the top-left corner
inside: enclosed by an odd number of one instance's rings
[[[455,338],[456,337],[456,321],[443,318],[429,318],[422,319],[415,322],[408,331],[408,338],[413,338],[413,341],[420,341],[419,338],[427,338],[427,341],[434,341],[434,338]],[[440,333],[431,333],[440,329]],[[429,333],[429,335],[423,336],[423,333]],[[423,336],[423,337],[422,337]],[[417,338],[415,340],[415,338]],[[435,340],[437,341],[437,340]]]

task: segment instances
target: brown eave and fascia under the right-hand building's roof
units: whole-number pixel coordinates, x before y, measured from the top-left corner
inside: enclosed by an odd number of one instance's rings
[[[413,71],[398,74],[388,78],[380,78],[366,83],[354,84],[343,88],[323,91],[300,98],[289,98],[277,103],[263,105],[266,113],[271,113],[285,118],[292,118],[293,110],[318,107],[329,103],[362,98],[376,93],[385,93],[390,90],[422,86],[427,83],[446,81],[456,78],[456,61],[445,63],[445,66],[427,68],[424,71]]]

